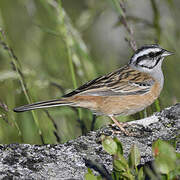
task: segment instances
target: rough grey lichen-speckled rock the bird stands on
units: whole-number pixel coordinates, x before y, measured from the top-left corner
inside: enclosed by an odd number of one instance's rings
[[[153,159],[151,145],[159,138],[176,139],[176,150],[180,152],[180,103],[131,124],[127,129],[133,131],[133,137],[113,134],[112,128],[105,127],[65,144],[0,145],[0,179],[84,179],[87,171],[84,158],[102,163],[111,171],[111,156],[102,149],[101,134],[117,136],[123,144],[125,156],[136,144],[142,164]]]

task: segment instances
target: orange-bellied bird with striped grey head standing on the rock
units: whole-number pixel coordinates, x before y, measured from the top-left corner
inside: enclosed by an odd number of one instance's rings
[[[162,62],[172,54],[157,44],[144,45],[124,67],[88,81],[59,99],[16,107],[14,112],[55,106],[81,107],[95,115],[110,117],[120,131],[128,134],[116,116],[142,111],[159,97],[164,85]]]

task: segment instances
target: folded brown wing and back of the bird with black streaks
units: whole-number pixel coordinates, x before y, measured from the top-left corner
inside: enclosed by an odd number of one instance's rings
[[[64,97],[73,95],[121,96],[144,94],[150,90],[153,84],[154,79],[148,74],[125,66],[85,83]]]

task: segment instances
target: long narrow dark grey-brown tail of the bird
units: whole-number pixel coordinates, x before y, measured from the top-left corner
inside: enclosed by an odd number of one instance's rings
[[[14,108],[13,110],[14,112],[24,112],[33,109],[42,109],[42,108],[55,107],[55,106],[68,106],[68,105],[71,106],[73,104],[74,104],[73,102],[69,102],[66,98],[63,98],[63,99],[41,101],[33,104],[27,104],[24,106]]]

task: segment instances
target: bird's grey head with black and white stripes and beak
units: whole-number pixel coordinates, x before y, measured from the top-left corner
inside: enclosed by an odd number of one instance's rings
[[[158,45],[145,45],[134,53],[129,65],[139,71],[153,73],[153,71],[161,70],[164,58],[172,54]]]

